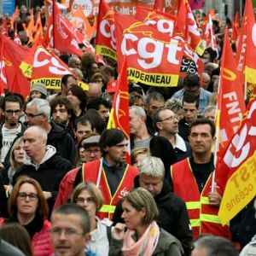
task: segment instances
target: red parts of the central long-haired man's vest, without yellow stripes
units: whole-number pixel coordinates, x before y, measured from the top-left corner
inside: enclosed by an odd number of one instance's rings
[[[91,161],[83,165],[83,178],[86,182],[97,182],[97,177],[99,173],[100,160]],[[126,166],[125,174],[119,183],[119,188],[115,194],[111,195],[110,189],[108,187],[108,180],[104,169],[102,170],[102,177],[100,180],[100,188],[102,190],[102,195],[104,198],[105,205],[116,206],[118,201],[123,198],[134,186],[134,177],[138,175],[138,170],[130,165]],[[99,218],[112,218],[112,213],[110,212],[98,212],[97,216]]]

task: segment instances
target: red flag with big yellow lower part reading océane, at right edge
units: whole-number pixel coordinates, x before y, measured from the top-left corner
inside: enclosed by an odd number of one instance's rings
[[[222,224],[234,218],[256,195],[256,97],[247,105],[247,116],[224,154],[228,173],[218,216]]]

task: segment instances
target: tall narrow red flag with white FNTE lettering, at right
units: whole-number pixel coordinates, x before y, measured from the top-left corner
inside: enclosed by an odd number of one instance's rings
[[[242,115],[246,111],[241,80],[237,72],[236,59],[230,46],[227,27],[225,28],[220,70],[216,127],[220,131],[218,157],[222,158],[225,148],[241,125]]]

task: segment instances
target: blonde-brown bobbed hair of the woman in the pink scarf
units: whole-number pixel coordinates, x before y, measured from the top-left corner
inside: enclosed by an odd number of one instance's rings
[[[143,217],[143,224],[151,224],[159,214],[154,197],[147,189],[134,189],[123,197],[123,201],[130,203],[131,207],[134,207],[138,212],[143,208],[146,210],[146,214]]]

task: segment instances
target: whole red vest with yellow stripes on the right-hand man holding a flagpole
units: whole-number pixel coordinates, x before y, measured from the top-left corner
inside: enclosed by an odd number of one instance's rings
[[[211,192],[212,174],[201,193],[189,164],[189,158],[171,166],[174,193],[186,203],[194,239],[201,234],[212,234],[231,239],[228,225],[222,226],[218,218],[218,207],[209,205],[208,195]]]

